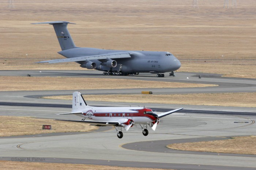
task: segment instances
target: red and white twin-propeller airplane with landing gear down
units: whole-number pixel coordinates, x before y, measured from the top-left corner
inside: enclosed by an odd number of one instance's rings
[[[72,101],[72,112],[61,113],[58,115],[74,114],[83,117],[82,120],[64,121],[75,121],[95,125],[114,126],[117,131],[117,137],[123,138],[123,127],[126,131],[128,131],[129,128],[132,127],[134,124],[139,124],[142,128],[142,134],[144,136],[147,136],[148,126],[155,131],[160,118],[180,111],[181,109],[183,108],[160,113],[157,115],[153,113],[151,109],[144,107],[94,107],[86,104],[80,92],[74,92]]]

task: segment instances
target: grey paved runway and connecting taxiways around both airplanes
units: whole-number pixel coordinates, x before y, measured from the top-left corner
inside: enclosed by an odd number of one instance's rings
[[[128,78],[136,80],[192,82],[204,84],[218,84],[216,87],[182,88],[182,89],[150,89],[154,94],[172,93],[219,93],[219,92],[255,92],[256,80],[223,78],[215,74],[201,74],[199,79],[194,73],[177,73],[176,77],[157,78],[153,74],[140,76],[102,76],[97,71],[0,71],[0,76],[75,76],[75,77],[104,77]],[[188,79],[187,79],[188,77]],[[79,90],[79,89],[74,89]],[[71,101],[46,100],[34,98],[38,96],[71,94],[74,90],[55,91],[19,91],[0,92],[0,115],[33,116],[49,119],[79,119],[77,116],[56,115],[71,111]],[[144,89],[143,89],[144,90]],[[148,90],[148,89],[146,89]],[[106,93],[140,93],[142,89],[104,89],[80,90],[82,94]],[[26,97],[25,97],[26,96]],[[86,96],[86,95],[85,95]],[[10,103],[10,104],[8,104]],[[125,106],[128,103],[92,102],[90,105]],[[10,106],[11,104],[12,107]],[[65,107],[62,107],[62,106]],[[68,106],[70,105],[70,108]],[[131,103],[131,105],[144,105]],[[60,108],[61,107],[61,108]],[[135,126],[124,137],[118,139],[115,130],[97,131],[93,133],[74,133],[69,135],[56,134],[54,136],[38,136],[0,139],[0,160],[12,158],[46,158],[45,162],[63,163],[90,163],[100,165],[116,165],[131,167],[155,167],[164,169],[255,169],[256,158],[248,155],[216,154],[201,152],[174,152],[164,148],[165,144],[157,141],[189,141],[194,139],[207,139],[226,136],[256,135],[255,108],[242,107],[210,107],[195,105],[162,105],[150,104],[146,107],[161,109],[184,107],[186,110],[203,111],[177,112],[166,116],[159,123],[154,132],[149,129],[149,135],[143,136],[140,127]],[[210,111],[210,113],[208,112]],[[211,114],[212,112],[221,114]],[[225,114],[225,112],[227,114]],[[237,114],[231,115],[231,112]],[[240,114],[241,113],[241,114]],[[248,123],[234,123],[248,122]],[[135,147],[125,149],[125,144]],[[150,144],[151,143],[151,144]],[[153,144],[154,143],[154,144]],[[142,145],[141,145],[142,144]],[[159,146],[161,145],[161,150]],[[146,150],[144,149],[146,148]],[[149,149],[149,150],[148,150]]]

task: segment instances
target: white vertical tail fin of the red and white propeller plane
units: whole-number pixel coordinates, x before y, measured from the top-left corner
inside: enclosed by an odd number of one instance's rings
[[[80,92],[73,93],[72,112],[78,112],[87,107],[87,104]]]

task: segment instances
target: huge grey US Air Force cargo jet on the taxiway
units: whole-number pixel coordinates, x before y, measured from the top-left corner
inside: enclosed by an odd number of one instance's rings
[[[103,75],[129,75],[153,73],[164,77],[163,73],[174,71],[181,66],[180,61],[169,52],[160,51],[121,51],[76,47],[67,25],[67,21],[41,22],[33,24],[51,24],[54,27],[62,51],[58,53],[65,59],[40,61],[37,63],[76,62],[80,67],[103,71]]]

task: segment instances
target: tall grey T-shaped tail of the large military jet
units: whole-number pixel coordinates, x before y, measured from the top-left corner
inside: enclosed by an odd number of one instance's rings
[[[61,50],[73,49],[76,48],[71,35],[68,32],[68,24],[75,24],[70,23],[67,21],[52,21],[52,22],[40,22],[40,23],[32,23],[32,24],[50,24],[53,25],[53,28],[56,32],[57,38],[60,43]]]

